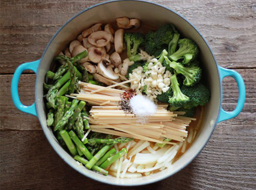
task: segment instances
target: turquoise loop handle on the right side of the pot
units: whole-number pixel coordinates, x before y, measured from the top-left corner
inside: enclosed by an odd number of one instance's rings
[[[224,77],[232,77],[236,80],[238,90],[239,90],[239,97],[237,101],[236,108],[233,111],[225,111],[222,107],[220,107],[220,115],[218,118],[218,122],[225,121],[227,119],[231,119],[236,117],[240,111],[243,108],[243,105],[245,103],[245,84],[243,82],[243,79],[238,72],[231,70],[231,69],[225,69],[221,66],[218,66],[219,73],[220,73],[220,85],[221,85],[221,100],[222,100],[222,80]]]

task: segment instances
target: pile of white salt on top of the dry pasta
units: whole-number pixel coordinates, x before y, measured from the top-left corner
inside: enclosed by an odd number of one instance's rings
[[[157,105],[146,96],[136,95],[130,99],[133,113],[139,118],[138,122],[145,123],[147,116],[154,115]]]

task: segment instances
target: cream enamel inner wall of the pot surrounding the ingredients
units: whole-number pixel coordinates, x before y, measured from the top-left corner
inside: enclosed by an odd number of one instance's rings
[[[188,151],[185,152],[185,154],[182,155],[182,157],[177,160],[168,170],[137,179],[116,179],[112,176],[103,176],[77,165],[75,160],[72,159],[72,157],[61,148],[60,144],[58,144],[58,141],[53,136],[52,130],[47,127],[43,102],[44,76],[49,70],[50,63],[52,62],[53,58],[85,28],[88,28],[97,22],[107,23],[115,20],[117,17],[123,16],[138,18],[142,22],[150,22],[152,25],[156,26],[160,26],[164,23],[173,23],[184,36],[193,39],[200,48],[200,59],[203,63],[204,78],[208,81],[209,89],[211,91],[211,99],[205,109],[203,124],[198,132],[196,140],[193,142]],[[91,177],[97,181],[114,185],[148,184],[164,179],[165,177],[176,173],[186,166],[201,151],[205,143],[208,141],[218,118],[220,99],[220,80],[217,65],[204,39],[182,17],[176,13],[173,13],[169,9],[149,2],[108,2],[94,6],[93,8],[84,11],[70,20],[70,22],[64,25],[57,35],[55,35],[52,42],[46,49],[46,52],[42,56],[36,80],[36,108],[38,118],[41,122],[46,137],[48,138],[50,144],[52,144],[55,151],[57,151],[60,157],[69,163],[69,165],[85,176]]]

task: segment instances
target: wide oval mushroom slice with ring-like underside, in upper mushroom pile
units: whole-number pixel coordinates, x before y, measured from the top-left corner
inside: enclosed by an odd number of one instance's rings
[[[90,34],[88,42],[97,47],[104,47],[110,42],[111,34],[106,31],[96,31]]]

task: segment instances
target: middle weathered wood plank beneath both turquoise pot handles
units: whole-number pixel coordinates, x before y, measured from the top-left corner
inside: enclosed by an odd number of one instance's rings
[[[244,81],[247,90],[247,99],[245,106],[234,119],[221,122],[223,126],[234,125],[256,125],[256,69],[236,69]],[[35,116],[23,113],[14,107],[9,92],[11,91],[11,79],[13,75],[0,75],[0,96],[2,100],[0,106],[2,113],[0,115],[0,130],[41,130],[38,119]],[[19,94],[20,99],[25,105],[30,105],[34,102],[35,96],[35,74],[25,74],[20,77]],[[223,81],[223,108],[231,111],[236,107],[238,99],[238,90],[236,82],[232,78],[225,78]],[[20,121],[20,122],[17,122]]]

